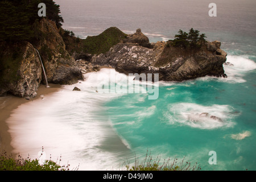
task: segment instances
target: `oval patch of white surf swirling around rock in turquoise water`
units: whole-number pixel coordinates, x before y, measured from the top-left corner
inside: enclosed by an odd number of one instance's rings
[[[203,106],[193,103],[179,103],[169,105],[165,113],[171,125],[185,125],[199,129],[217,129],[232,127],[233,114],[229,105]]]

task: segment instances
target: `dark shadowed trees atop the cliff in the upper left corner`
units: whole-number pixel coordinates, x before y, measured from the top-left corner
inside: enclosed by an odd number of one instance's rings
[[[36,28],[38,20],[38,4],[46,4],[47,17],[59,28],[64,22],[60,14],[60,6],[52,0],[0,0],[0,41],[17,42],[39,38]]]

